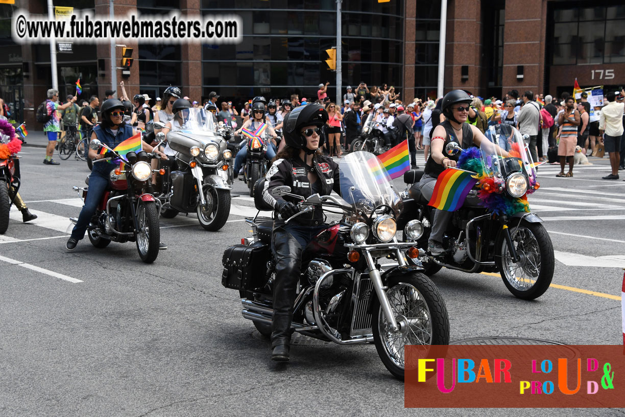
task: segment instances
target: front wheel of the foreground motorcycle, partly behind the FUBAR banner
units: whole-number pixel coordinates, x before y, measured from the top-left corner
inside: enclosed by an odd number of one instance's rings
[[[402,319],[405,319],[405,311],[415,310],[422,313],[417,317],[417,322],[419,324],[426,323],[426,328],[422,326],[420,329],[414,328],[417,324],[409,324],[411,327],[402,334],[401,341],[403,344],[401,348],[396,349],[397,343],[394,341],[396,334],[386,330],[386,317],[381,304],[377,297],[373,299],[371,328],[377,354],[382,359],[386,369],[395,378],[403,381],[404,346],[407,344],[449,344],[449,316],[436,285],[422,273],[391,278],[387,282],[387,287],[386,294],[395,317],[399,319],[399,324],[401,324]],[[424,336],[424,338],[420,339],[418,335]]]

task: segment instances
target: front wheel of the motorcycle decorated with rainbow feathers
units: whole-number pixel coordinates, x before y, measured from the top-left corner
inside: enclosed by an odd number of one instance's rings
[[[549,233],[542,223],[521,221],[511,227],[510,236],[521,259],[512,263],[506,239],[499,233],[495,241],[495,264],[506,288],[517,298],[535,299],[551,285],[556,259]],[[538,257],[538,258],[536,258]],[[522,275],[519,277],[518,275]]]

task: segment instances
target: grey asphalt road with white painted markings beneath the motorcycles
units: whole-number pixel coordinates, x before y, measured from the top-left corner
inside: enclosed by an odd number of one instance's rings
[[[21,194],[39,219],[24,224],[13,208],[0,236],[2,416],[625,414],[404,409],[404,385],[372,345],[301,339],[287,366],[272,363],[269,341],[241,316],[237,291],[221,286],[222,251],[249,234],[242,219],[255,213],[243,183],[235,184],[229,223],[218,232],[204,231],[192,214],[161,219],[169,249],[146,265],[134,243],[96,249],[84,239],[66,252],[69,217],[80,206],[71,188],[88,176],[86,163],[47,166],[40,148],[21,154]],[[522,301],[495,276],[442,269],[432,277],[452,341],[622,343],[625,182],[600,179],[607,158],[591,162],[576,166],[574,178],[555,178],[559,168],[542,166],[542,187],[529,200],[551,234],[558,288]]]

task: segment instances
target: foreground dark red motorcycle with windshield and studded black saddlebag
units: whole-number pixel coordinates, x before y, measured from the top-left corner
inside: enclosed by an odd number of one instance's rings
[[[419,256],[414,242],[421,238],[423,226],[418,220],[408,222],[404,236],[412,240],[397,241],[402,201],[374,154],[351,153],[339,167],[344,201],[319,194],[304,199],[291,194],[288,186],[272,190],[274,195],[302,200],[300,213],[291,219],[321,206],[327,213],[343,214],[304,251],[291,326],[298,333],[337,344],[374,343],[384,366],[403,379],[404,346],[449,343],[449,318],[441,294],[423,268],[410,266],[406,259]],[[254,203],[259,210],[271,210],[262,199],[263,181],[254,186]],[[276,273],[273,221],[256,217],[247,222],[254,234],[224,251],[222,285],[239,290],[243,317],[269,336]],[[385,258],[395,262],[380,262]]]

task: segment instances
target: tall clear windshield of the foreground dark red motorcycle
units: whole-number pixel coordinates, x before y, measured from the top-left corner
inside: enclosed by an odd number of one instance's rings
[[[356,211],[371,212],[377,206],[390,206],[396,216],[401,199],[392,188],[391,178],[381,161],[372,153],[359,151],[344,156],[339,164],[341,197]]]

